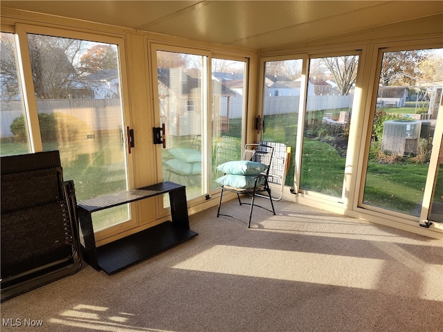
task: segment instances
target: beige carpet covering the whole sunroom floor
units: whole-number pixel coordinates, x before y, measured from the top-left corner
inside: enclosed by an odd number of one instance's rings
[[[1,331],[443,331],[442,241],[275,208],[249,230],[216,208],[190,216],[199,235],[161,255],[111,276],[84,264],[3,302]]]

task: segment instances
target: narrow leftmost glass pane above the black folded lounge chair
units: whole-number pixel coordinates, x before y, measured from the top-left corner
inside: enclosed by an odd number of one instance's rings
[[[0,55],[0,154],[28,154],[32,150],[15,34],[0,33]]]

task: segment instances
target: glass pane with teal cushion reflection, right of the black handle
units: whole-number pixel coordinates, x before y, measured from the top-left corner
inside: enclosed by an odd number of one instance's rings
[[[163,181],[186,185],[192,199],[206,192],[204,149],[207,119],[208,57],[156,51]],[[165,202],[166,203],[166,202]]]

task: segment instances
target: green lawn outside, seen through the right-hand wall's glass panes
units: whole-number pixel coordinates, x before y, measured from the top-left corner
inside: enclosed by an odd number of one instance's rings
[[[415,107],[388,108],[398,113],[415,113]],[[412,111],[414,110],[414,111]],[[335,113],[338,113],[337,110]],[[334,112],[332,112],[334,113]],[[267,116],[264,133],[266,140],[283,142],[295,151],[297,114]],[[285,130],[286,129],[286,130]],[[345,158],[325,142],[305,138],[302,152],[300,187],[332,196],[341,196]],[[293,163],[289,176],[293,174]],[[365,183],[364,202],[390,210],[415,214],[417,205],[421,204],[426,184],[428,165],[407,163],[380,164],[370,162]],[[443,170],[440,169],[440,173]],[[288,178],[289,178],[288,176]],[[293,178],[287,178],[291,185]],[[443,175],[439,178],[443,182]],[[436,188],[435,200],[443,201],[443,186]]]

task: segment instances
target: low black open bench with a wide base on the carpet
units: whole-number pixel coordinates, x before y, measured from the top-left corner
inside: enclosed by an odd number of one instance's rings
[[[93,212],[166,193],[170,198],[172,221],[165,221],[96,248],[91,216]],[[96,270],[102,269],[108,275],[177,246],[198,234],[189,228],[186,187],[168,181],[82,201],[78,203],[78,216],[82,230],[80,242],[84,260]]]

